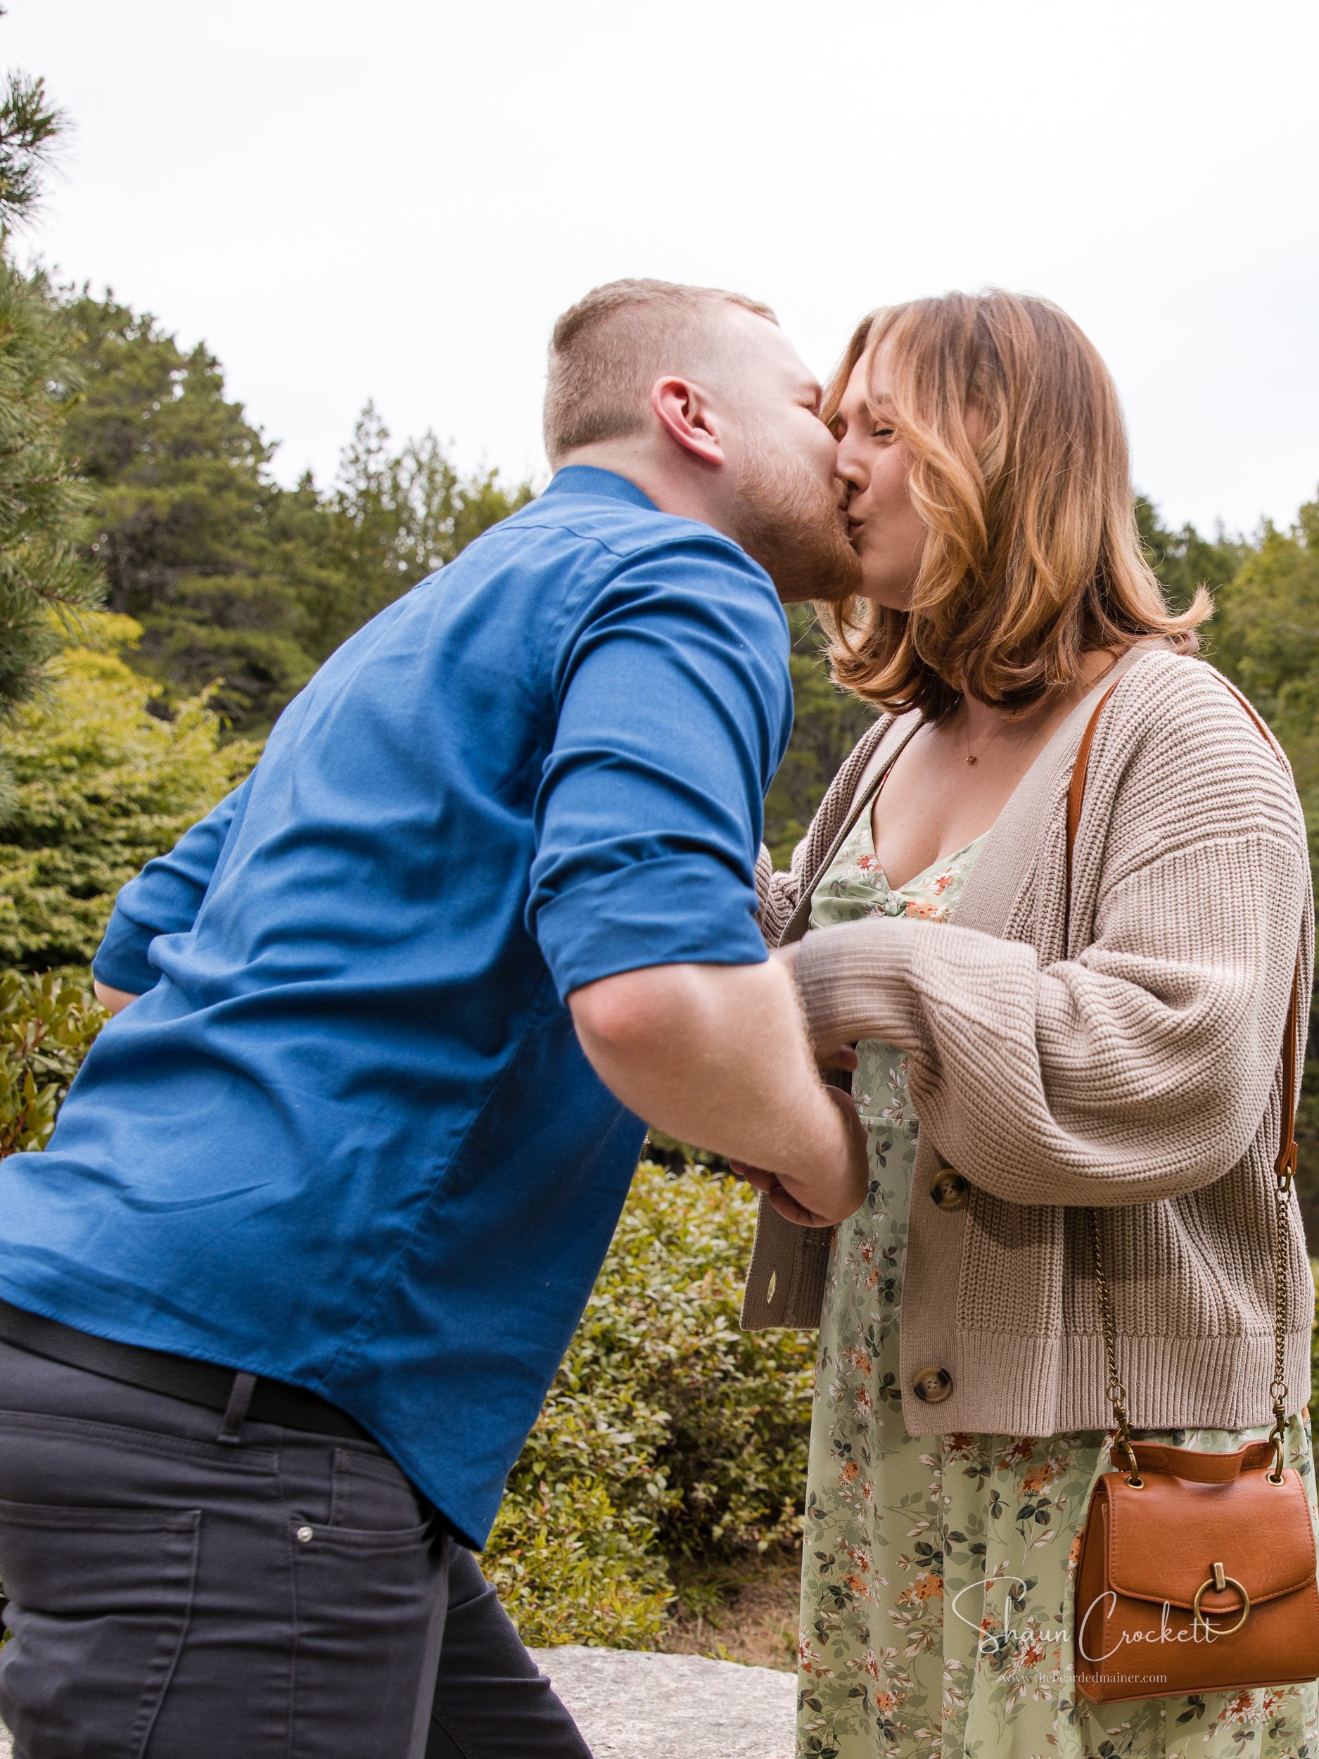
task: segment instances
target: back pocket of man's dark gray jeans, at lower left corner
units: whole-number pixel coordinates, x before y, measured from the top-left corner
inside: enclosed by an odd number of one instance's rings
[[[25,1759],[139,1759],[192,1611],[200,1509],[0,1502],[0,1717]]]

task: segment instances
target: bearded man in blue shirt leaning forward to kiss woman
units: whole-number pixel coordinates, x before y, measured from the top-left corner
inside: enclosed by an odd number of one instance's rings
[[[120,895],[118,1018],[4,1171],[28,1759],[586,1752],[470,1548],[640,1120],[814,1221],[865,1189],[754,915],[770,582],[856,577],[818,410],[763,306],[587,296],[547,493],[352,637]]]

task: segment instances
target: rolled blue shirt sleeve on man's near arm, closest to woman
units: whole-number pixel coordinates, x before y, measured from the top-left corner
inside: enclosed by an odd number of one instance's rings
[[[561,997],[658,964],[756,964],[763,799],[791,732],[788,623],[716,533],[572,605],[550,681],[528,927]]]

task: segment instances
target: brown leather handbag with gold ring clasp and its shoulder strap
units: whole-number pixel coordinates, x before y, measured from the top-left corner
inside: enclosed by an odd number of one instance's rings
[[[1090,741],[1111,693],[1090,716],[1073,769],[1068,894]],[[1245,697],[1235,690],[1233,695],[1264,734]],[[1300,969],[1282,1040],[1282,1142],[1273,1168],[1273,1428],[1266,1441],[1247,1442],[1236,1453],[1133,1441],[1127,1390],[1117,1374],[1099,1212],[1089,1212],[1108,1353],[1106,1391],[1117,1421],[1113,1455],[1126,1460],[1104,1472],[1090,1493],[1076,1569],[1073,1671],[1076,1690],[1092,1703],[1240,1692],[1319,1678],[1314,1523],[1300,1472],[1284,1465],[1287,1384],[1282,1369],[1287,1201],[1296,1171],[1298,1018]]]

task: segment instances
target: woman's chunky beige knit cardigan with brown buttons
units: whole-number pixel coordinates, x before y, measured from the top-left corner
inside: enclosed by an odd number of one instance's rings
[[[1064,938],[1066,792],[1090,753]],[[762,851],[770,945],[811,892],[915,714],[844,763],[790,872]],[[902,1286],[913,1435],[1111,1427],[1087,1205],[1099,1207],[1119,1372],[1138,1428],[1272,1418],[1273,1156],[1293,967],[1310,994],[1305,821],[1280,748],[1221,675],[1131,651],[1053,734],[999,816],[951,923],[813,932],[797,974],[818,1048],[909,1052],[920,1119]],[[943,1208],[943,1168],[969,1180]],[[1287,1411],[1310,1386],[1314,1282],[1291,1194]],[[830,1230],[762,1200],[742,1325],[818,1323]],[[915,1388],[943,1367],[937,1404]],[[925,1383],[929,1384],[929,1383]]]

